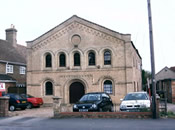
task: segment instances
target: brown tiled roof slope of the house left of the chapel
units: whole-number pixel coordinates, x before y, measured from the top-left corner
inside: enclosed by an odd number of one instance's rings
[[[0,40],[0,60],[26,64],[26,47],[17,44],[13,47],[6,40]]]

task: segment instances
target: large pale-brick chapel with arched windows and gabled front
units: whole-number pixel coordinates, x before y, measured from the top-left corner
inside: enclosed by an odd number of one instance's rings
[[[88,92],[106,92],[119,104],[141,90],[141,57],[130,34],[76,15],[33,41],[27,41],[27,93],[51,104],[71,105]]]

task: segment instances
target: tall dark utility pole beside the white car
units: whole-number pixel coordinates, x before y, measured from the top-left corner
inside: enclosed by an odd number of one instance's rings
[[[150,38],[150,55],[151,55],[151,72],[152,72],[152,113],[153,119],[157,118],[156,110],[156,81],[155,81],[155,63],[154,63],[154,43],[152,30],[151,2],[148,1],[148,22],[149,22],[149,38]]]

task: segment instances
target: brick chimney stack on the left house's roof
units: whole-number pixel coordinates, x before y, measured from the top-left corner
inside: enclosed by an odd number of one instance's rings
[[[17,40],[16,40],[16,32],[15,26],[12,24],[11,28],[6,29],[6,40],[12,44],[12,46],[16,47]]]

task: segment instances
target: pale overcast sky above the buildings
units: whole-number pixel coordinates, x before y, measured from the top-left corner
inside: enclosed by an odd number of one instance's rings
[[[175,0],[151,0],[155,69],[175,66]],[[26,45],[77,15],[114,31],[131,34],[151,71],[147,0],[0,0],[0,39],[15,25],[18,44]]]

